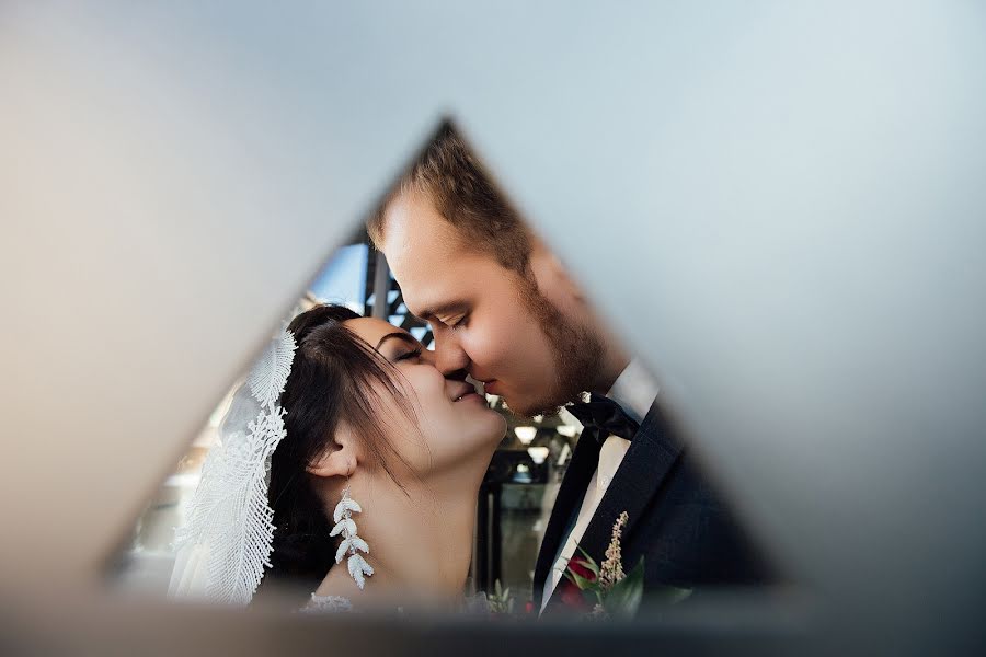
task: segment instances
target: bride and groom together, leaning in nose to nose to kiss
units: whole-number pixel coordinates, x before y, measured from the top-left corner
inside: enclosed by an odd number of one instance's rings
[[[172,596],[305,611],[461,609],[480,485],[520,416],[584,425],[534,568],[563,613],[570,560],[643,561],[643,592],[768,584],[771,567],[697,469],[642,364],[607,330],[449,124],[368,222],[410,333],[337,306],[297,315],[233,397],[180,529]],[[291,589],[288,589],[291,590]]]

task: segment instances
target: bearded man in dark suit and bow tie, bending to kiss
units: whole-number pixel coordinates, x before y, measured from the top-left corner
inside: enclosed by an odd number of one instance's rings
[[[467,373],[514,412],[569,410],[585,425],[535,569],[535,604],[563,608],[577,546],[605,560],[614,523],[645,591],[755,585],[772,573],[662,414],[657,387],[599,321],[562,264],[443,126],[368,223],[408,309],[435,335],[437,367]]]

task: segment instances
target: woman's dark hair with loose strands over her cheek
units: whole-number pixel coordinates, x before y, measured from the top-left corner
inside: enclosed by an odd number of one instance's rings
[[[406,462],[383,430],[378,391],[390,393],[409,418],[414,412],[395,383],[397,370],[343,326],[359,316],[342,306],[317,306],[288,325],[298,348],[280,396],[287,437],[271,458],[267,497],[276,529],[264,584],[318,583],[335,563],[332,526],[306,468],[332,449],[341,420],[363,439],[371,464],[400,485],[390,459]]]

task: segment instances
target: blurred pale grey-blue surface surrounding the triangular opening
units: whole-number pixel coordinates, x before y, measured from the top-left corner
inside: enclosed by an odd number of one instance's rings
[[[144,618],[106,560],[450,115],[817,597],[804,636],[981,643],[984,12],[4,3],[4,635],[41,645],[57,618],[84,645],[61,600]],[[729,649],[701,618],[689,636]],[[294,621],[222,619],[294,645]]]

